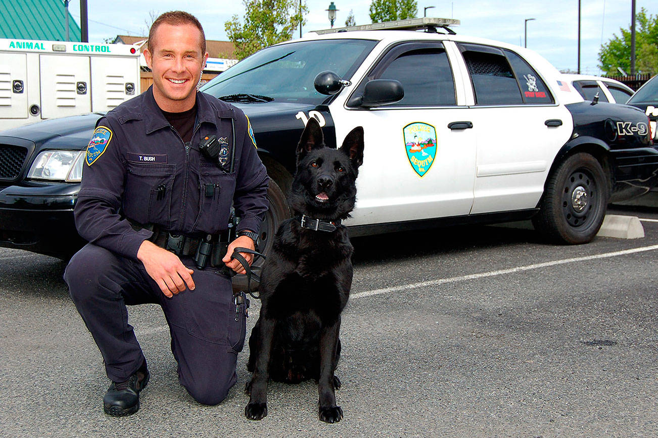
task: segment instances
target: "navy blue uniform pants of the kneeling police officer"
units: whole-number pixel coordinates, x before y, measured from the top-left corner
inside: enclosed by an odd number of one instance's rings
[[[124,382],[145,362],[126,305],[161,305],[169,324],[178,380],[205,405],[220,403],[236,383],[236,361],[245,339],[245,309],[236,321],[231,280],[211,269],[194,269],[195,290],[164,296],[138,261],[93,244],[73,256],[64,280],[71,299],[98,345],[107,376]]]

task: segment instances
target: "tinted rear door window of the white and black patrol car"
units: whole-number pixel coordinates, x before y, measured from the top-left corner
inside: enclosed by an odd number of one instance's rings
[[[476,105],[522,104],[521,91],[512,68],[495,47],[460,44]]]

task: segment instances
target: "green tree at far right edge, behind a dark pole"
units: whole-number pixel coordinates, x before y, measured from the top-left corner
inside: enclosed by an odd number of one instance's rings
[[[611,76],[621,67],[630,74],[630,26],[620,28],[621,36],[613,35],[599,51],[599,68]],[[658,16],[647,16],[646,9],[636,14],[635,66],[639,73],[658,73]]]

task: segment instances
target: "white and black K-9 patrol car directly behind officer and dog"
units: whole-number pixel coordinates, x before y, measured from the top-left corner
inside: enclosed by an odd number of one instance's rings
[[[272,179],[261,250],[290,214],[285,193],[309,118],[331,146],[365,130],[352,236],[532,217],[551,240],[578,244],[595,236],[609,201],[656,183],[644,112],[585,101],[541,56],[455,35],[456,22],[307,33],[203,86],[249,116]],[[0,133],[0,246],[59,257],[80,247],[72,208],[100,116]]]

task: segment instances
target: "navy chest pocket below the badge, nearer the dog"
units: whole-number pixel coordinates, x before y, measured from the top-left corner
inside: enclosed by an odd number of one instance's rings
[[[215,234],[226,230],[235,189],[235,173],[224,173],[215,164],[199,165],[199,215],[195,231]]]

